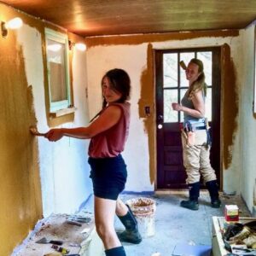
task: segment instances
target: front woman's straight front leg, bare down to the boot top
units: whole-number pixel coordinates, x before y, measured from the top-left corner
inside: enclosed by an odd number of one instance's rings
[[[125,256],[113,226],[116,201],[95,196],[94,202],[96,231],[102,239],[106,255]]]

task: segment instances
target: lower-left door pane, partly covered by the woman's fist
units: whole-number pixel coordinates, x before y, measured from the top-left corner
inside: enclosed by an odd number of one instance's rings
[[[172,110],[172,102],[177,102],[177,90],[164,90],[164,123],[177,122],[177,111]]]

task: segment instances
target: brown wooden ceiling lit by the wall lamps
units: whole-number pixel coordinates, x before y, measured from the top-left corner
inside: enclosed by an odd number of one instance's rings
[[[256,0],[2,0],[82,37],[241,29]]]

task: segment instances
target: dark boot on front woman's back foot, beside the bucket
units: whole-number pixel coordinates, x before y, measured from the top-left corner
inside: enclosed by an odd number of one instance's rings
[[[120,241],[127,241],[138,244],[143,241],[141,234],[137,229],[137,219],[134,217],[131,209],[128,205],[128,212],[125,216],[118,216],[119,220],[125,226],[125,231],[118,233]]]

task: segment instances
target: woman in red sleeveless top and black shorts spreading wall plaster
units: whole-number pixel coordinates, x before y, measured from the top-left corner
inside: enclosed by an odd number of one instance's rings
[[[89,147],[90,177],[95,196],[96,230],[101,237],[107,256],[125,256],[121,241],[142,241],[137,230],[137,220],[131,209],[118,199],[125,189],[127,177],[125,161],[121,156],[130,123],[131,82],[122,69],[112,69],[102,78],[102,111],[90,125],[78,128],[49,130],[45,137],[51,142],[61,137],[91,139]],[[117,236],[113,220],[115,213],[125,225],[125,231]]]

